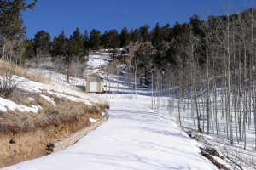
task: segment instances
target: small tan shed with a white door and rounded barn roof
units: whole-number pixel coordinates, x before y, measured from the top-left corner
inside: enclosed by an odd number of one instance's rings
[[[104,82],[102,77],[93,74],[86,78],[86,93],[103,93]]]

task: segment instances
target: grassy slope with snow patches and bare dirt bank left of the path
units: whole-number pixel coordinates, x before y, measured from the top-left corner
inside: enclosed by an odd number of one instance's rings
[[[99,119],[108,103],[0,62],[0,167],[46,155],[46,145]]]

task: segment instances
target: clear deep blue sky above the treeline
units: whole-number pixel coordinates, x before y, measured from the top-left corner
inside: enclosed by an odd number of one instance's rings
[[[92,28],[103,33],[124,26],[129,30],[145,24],[154,28],[156,22],[173,26],[176,21],[188,22],[193,14],[201,19],[224,14],[229,2],[234,12],[252,6],[252,0],[38,0],[33,10],[23,13],[23,20],[28,38],[41,30],[51,37],[64,30],[68,37],[76,27],[83,33]]]

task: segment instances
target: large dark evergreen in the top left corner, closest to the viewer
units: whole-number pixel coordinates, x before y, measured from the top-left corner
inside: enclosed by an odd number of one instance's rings
[[[0,1],[0,48],[3,49],[1,59],[15,61],[18,64],[20,58],[20,64],[22,63],[21,56],[26,48],[23,42],[26,28],[22,26],[21,12],[27,8],[32,9],[36,3],[37,0],[31,4],[26,3],[25,0]]]

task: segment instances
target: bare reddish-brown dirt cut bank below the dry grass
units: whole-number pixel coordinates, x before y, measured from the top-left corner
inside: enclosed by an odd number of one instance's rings
[[[47,155],[47,144],[90,125],[90,117],[99,119],[101,114],[98,111],[86,113],[84,116],[58,125],[40,127],[24,133],[0,132],[0,168]]]

